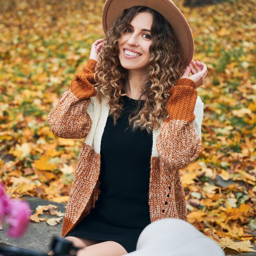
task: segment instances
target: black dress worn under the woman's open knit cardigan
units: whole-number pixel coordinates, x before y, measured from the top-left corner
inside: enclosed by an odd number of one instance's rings
[[[145,130],[126,130],[130,111],[139,100],[122,97],[124,113],[117,126],[108,116],[101,139],[101,193],[88,216],[67,236],[115,241],[129,253],[135,251],[141,231],[150,224],[148,189],[153,136]],[[141,101],[143,106],[145,101]]]

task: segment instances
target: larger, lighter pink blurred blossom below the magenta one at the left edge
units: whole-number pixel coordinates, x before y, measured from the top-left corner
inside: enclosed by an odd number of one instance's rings
[[[5,219],[9,223],[7,236],[18,238],[23,236],[29,226],[30,207],[27,202],[12,200],[10,216]]]

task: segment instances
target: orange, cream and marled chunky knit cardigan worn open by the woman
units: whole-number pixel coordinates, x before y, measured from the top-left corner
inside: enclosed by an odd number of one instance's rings
[[[89,59],[48,116],[54,135],[67,139],[84,138],[67,202],[62,236],[90,213],[100,193],[101,137],[110,107],[106,99],[99,103],[94,97],[97,94],[93,85],[96,64],[97,61]],[[166,105],[168,117],[160,120],[158,129],[153,129],[148,191],[151,222],[162,218],[187,220],[179,170],[193,162],[201,148],[204,104],[194,81],[179,79],[170,92]]]

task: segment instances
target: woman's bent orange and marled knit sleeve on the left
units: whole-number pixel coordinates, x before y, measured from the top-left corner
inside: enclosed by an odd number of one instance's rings
[[[89,59],[83,71],[71,82],[70,90],[64,92],[60,101],[49,112],[50,129],[57,137],[65,139],[84,138],[92,125],[88,114],[93,111],[91,97],[96,95],[94,72],[97,61]]]

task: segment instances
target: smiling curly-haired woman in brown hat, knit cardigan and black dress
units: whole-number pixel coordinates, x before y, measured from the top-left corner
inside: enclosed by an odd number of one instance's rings
[[[207,67],[191,61],[180,10],[172,1],[107,0],[103,29],[106,40],[92,44],[48,117],[56,136],[85,138],[62,233],[83,248],[79,256],[127,254],[151,222],[186,220],[179,170],[201,148],[196,88]]]

